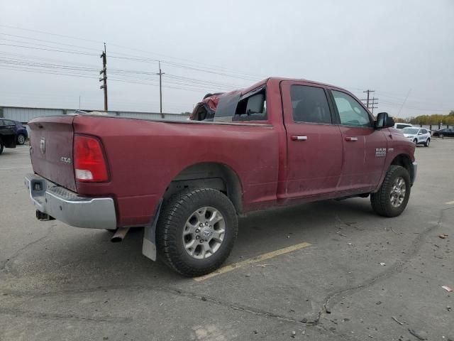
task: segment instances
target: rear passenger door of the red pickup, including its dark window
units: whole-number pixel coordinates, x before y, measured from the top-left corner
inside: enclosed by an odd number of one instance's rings
[[[287,131],[288,198],[336,190],[342,169],[341,131],[323,87],[306,82],[281,82]]]

